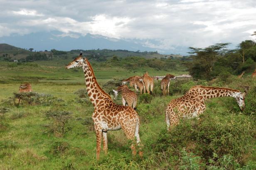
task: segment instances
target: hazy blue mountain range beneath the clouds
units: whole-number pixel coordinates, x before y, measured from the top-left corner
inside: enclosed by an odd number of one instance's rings
[[[44,51],[57,49],[62,51],[70,51],[72,49],[111,49],[111,50],[129,50],[129,51],[157,51],[158,49],[147,47],[141,40],[121,40],[109,38],[101,35],[71,34],[63,36],[62,32],[37,32],[25,35],[12,35],[0,37],[0,43],[12,44],[21,48],[33,48],[36,51]],[[160,53],[180,53],[184,51],[182,47],[177,47],[173,51],[160,51]],[[182,54],[185,54],[182,53]]]

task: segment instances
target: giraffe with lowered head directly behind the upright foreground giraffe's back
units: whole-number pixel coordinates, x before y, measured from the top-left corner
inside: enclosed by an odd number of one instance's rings
[[[118,92],[122,92],[122,102],[123,106],[126,106],[126,103],[128,106],[132,107],[134,110],[136,109],[137,105],[137,95],[135,92],[130,90],[127,85],[121,85],[117,88],[117,90],[113,90],[115,93],[115,96],[117,97]]]

